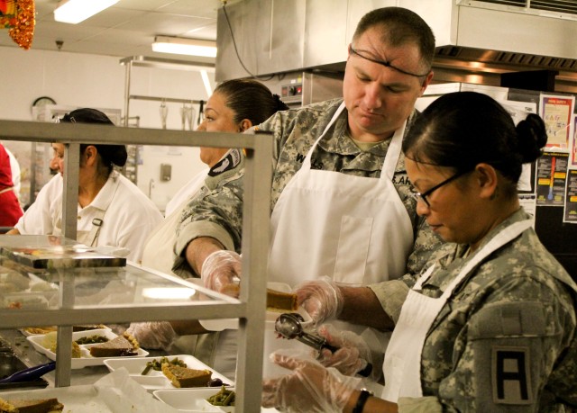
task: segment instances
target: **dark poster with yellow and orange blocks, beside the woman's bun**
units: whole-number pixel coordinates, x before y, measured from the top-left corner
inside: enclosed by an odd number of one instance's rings
[[[538,206],[564,206],[567,152],[545,152],[537,159],[536,193]]]

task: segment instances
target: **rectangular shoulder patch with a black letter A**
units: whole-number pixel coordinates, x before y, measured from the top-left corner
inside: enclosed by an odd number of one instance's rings
[[[495,346],[491,351],[491,382],[496,404],[533,404],[528,347]]]

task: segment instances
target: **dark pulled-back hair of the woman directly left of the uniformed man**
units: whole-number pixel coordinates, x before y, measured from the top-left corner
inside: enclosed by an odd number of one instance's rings
[[[278,94],[272,94],[267,86],[253,79],[226,80],[216,86],[215,94],[224,96],[236,123],[248,119],[258,125],[274,113],[289,109]]]

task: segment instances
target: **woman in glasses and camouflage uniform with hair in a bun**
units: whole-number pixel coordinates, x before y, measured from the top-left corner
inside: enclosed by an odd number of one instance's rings
[[[317,322],[331,315],[360,322],[364,314],[365,324],[394,328],[381,398],[318,364],[276,355],[294,372],[265,382],[264,405],[356,413],[577,407],[577,285],[540,243],[517,197],[522,164],[545,143],[541,118],[516,127],[484,94],[432,103],[403,151],[417,213],[448,243],[398,297],[330,281],[298,289]],[[320,330],[343,346],[325,351],[322,363],[354,373],[362,346]]]

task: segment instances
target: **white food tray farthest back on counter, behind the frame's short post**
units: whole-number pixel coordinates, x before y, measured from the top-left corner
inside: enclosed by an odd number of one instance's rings
[[[109,340],[112,340],[118,336],[116,336],[110,329],[100,328],[96,330],[86,330],[86,331],[77,331],[72,333],[72,340],[78,340],[80,337],[90,337],[90,336],[105,336]],[[36,349],[36,351],[46,355],[50,360],[56,360],[56,354],[50,350],[50,348],[45,346],[45,339],[46,334],[42,334],[40,336],[30,336],[26,337],[28,341],[32,343],[32,346]],[[111,357],[93,357],[90,355],[90,347],[97,346],[96,344],[91,345],[80,345],[80,358],[73,358],[72,359],[72,368],[73,369],[81,369],[90,365],[102,365],[104,364],[106,359]],[[149,355],[146,350],[139,348],[136,352],[137,355],[126,355],[119,358],[142,358]]]

